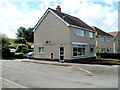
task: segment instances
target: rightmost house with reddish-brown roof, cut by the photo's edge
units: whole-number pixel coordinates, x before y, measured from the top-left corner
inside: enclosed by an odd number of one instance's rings
[[[120,53],[120,32],[116,31],[116,32],[108,32],[108,33],[114,36],[114,44],[113,44],[114,53]]]

